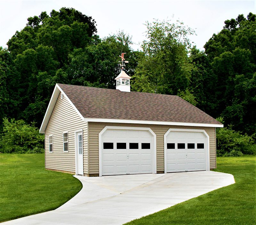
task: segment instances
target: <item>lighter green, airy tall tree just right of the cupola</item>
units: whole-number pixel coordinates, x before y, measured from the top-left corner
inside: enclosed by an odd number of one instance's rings
[[[143,53],[139,55],[132,77],[132,89],[161,94],[190,94],[188,86],[192,65],[188,60],[188,36],[194,31],[179,21],[156,20],[146,25],[147,39],[141,46]]]

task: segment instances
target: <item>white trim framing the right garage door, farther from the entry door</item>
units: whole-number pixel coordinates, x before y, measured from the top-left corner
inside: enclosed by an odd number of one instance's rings
[[[177,129],[177,128],[170,128],[169,130],[166,131],[164,134],[164,173],[167,173],[167,162],[166,162],[166,157],[167,157],[167,143],[166,143],[166,137],[171,131],[186,131],[186,132],[201,132],[204,133],[204,135],[207,137],[207,151],[206,151],[206,170],[210,170],[210,137],[206,133],[205,130],[198,130],[198,129]]]

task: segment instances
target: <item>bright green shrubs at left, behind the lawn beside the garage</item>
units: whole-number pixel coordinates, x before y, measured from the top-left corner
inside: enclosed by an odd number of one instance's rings
[[[32,123],[24,120],[4,119],[0,136],[0,151],[4,153],[42,153],[44,135]]]

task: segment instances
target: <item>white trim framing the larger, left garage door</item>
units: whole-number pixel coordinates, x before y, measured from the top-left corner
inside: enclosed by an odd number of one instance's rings
[[[102,176],[102,144],[101,136],[107,129],[119,129],[119,130],[148,130],[154,137],[154,149],[153,149],[153,174],[156,174],[156,134],[150,129],[145,127],[118,127],[118,126],[106,126],[99,133],[99,176]]]

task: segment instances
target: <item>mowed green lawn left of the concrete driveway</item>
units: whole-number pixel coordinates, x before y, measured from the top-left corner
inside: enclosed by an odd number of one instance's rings
[[[71,174],[44,169],[44,154],[0,154],[0,222],[56,209],[81,190]]]

